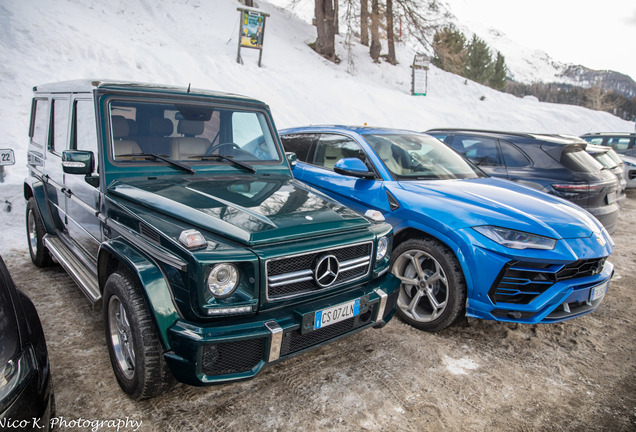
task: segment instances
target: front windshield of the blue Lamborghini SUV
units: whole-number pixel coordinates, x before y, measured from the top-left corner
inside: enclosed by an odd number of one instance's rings
[[[436,138],[420,134],[364,135],[399,180],[446,180],[484,177],[464,157]]]

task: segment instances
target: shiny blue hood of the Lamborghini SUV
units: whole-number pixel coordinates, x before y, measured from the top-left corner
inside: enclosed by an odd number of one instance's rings
[[[419,211],[447,229],[496,225],[555,239],[587,238],[601,225],[569,201],[496,178],[399,182]]]

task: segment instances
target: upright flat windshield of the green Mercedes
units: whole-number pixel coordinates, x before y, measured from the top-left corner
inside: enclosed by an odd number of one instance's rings
[[[118,162],[201,166],[232,159],[281,160],[267,118],[259,111],[189,101],[113,100],[109,112],[111,154]]]

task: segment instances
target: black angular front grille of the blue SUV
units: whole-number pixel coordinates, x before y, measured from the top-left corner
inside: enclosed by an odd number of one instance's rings
[[[566,265],[511,261],[504,266],[488,296],[495,304],[529,304],[556,282],[599,274],[606,259],[584,259]]]

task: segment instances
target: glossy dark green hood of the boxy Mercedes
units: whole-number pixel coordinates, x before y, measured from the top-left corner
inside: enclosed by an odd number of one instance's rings
[[[159,177],[116,181],[108,197],[142,220],[165,214],[184,227],[246,245],[367,228],[352,210],[289,177]],[[142,208],[150,210],[144,214]]]

